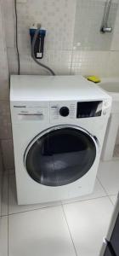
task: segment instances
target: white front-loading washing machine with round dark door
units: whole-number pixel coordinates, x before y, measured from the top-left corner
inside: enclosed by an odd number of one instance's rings
[[[111,97],[82,76],[14,75],[10,84],[18,203],[91,193]]]

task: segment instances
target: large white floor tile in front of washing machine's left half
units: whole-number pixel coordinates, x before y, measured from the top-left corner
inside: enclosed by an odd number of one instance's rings
[[[13,214],[8,224],[9,256],[76,255],[62,207]]]

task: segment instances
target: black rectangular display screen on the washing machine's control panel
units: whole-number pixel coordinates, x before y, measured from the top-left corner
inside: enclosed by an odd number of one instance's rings
[[[102,101],[77,102],[77,119],[100,116],[102,113]]]

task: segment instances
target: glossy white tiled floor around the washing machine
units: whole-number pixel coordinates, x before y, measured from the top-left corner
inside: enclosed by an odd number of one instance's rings
[[[119,187],[119,161],[101,162],[92,195],[18,206],[14,173],[3,177],[0,256],[99,256]]]

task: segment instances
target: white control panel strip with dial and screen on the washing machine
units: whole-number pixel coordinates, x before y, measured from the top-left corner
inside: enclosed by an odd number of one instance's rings
[[[14,105],[14,122],[70,122],[71,119],[93,118],[106,114],[105,102],[40,102],[36,105]]]

